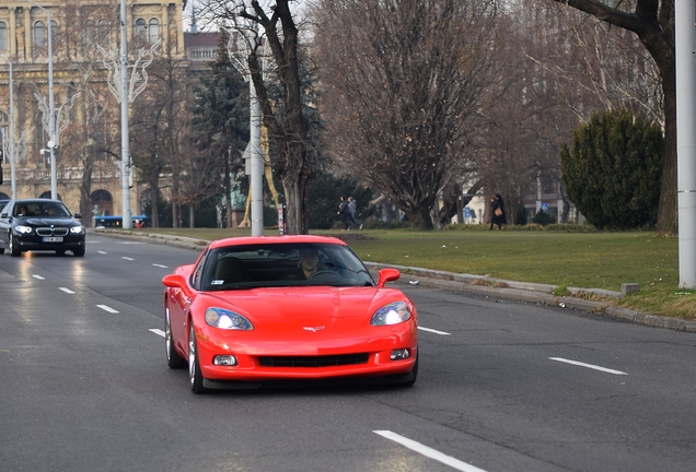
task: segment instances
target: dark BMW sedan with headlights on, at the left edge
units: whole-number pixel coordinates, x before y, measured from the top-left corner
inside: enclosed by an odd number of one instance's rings
[[[0,253],[28,250],[67,250],[84,256],[84,226],[59,200],[12,200],[0,212]]]

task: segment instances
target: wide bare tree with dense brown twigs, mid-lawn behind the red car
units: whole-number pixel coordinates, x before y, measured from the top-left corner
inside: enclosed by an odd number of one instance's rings
[[[496,3],[323,0],[315,48],[328,142],[414,228],[465,157],[494,80]]]

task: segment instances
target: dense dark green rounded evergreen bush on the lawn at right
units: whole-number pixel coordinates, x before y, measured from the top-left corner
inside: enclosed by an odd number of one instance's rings
[[[600,229],[652,226],[658,219],[664,138],[624,110],[593,114],[560,150],[568,198]]]

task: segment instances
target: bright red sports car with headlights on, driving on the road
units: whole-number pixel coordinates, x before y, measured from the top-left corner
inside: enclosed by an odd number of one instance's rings
[[[413,385],[418,316],[376,283],[341,240],[322,236],[213,241],[162,283],[172,368],[188,365],[194,392],[299,380]]]

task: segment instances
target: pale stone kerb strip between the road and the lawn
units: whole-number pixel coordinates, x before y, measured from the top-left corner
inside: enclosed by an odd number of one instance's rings
[[[89,229],[103,236],[136,239],[152,244],[177,246],[186,249],[202,251],[207,246],[207,240],[188,238],[183,236],[170,236],[158,234],[143,234],[127,229]],[[363,261],[364,262],[364,261]],[[579,311],[606,315],[615,319],[622,319],[656,328],[668,328],[678,331],[696,332],[696,321],[668,318],[658,315],[649,315],[627,308],[617,307],[606,302],[588,300],[573,296],[556,296],[554,290],[556,285],[537,284],[530,282],[517,282],[501,279],[491,279],[485,275],[462,274],[455,272],[444,272],[431,269],[411,268],[405,266],[387,266],[376,262],[364,262],[371,271],[384,268],[395,268],[402,272],[402,280],[416,282],[414,285],[422,285],[433,288],[441,288],[455,292],[467,292],[479,295],[487,295],[500,298],[515,299],[521,302],[553,305],[561,308],[575,309]],[[478,283],[485,282],[485,285]],[[601,288],[568,287],[572,294],[595,294],[602,298],[619,298],[620,292],[605,291]]]

